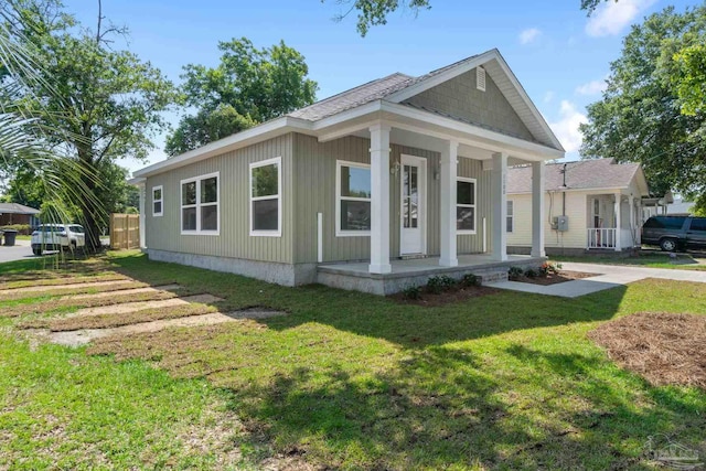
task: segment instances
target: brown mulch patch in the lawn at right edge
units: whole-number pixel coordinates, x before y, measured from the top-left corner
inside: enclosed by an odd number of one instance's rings
[[[706,315],[640,312],[607,322],[588,336],[653,385],[706,389]]]

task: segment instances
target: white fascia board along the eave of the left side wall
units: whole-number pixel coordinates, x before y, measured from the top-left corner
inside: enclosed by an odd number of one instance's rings
[[[210,157],[271,139],[272,137],[281,136],[287,132],[311,133],[311,122],[299,118],[292,118],[290,116],[284,116],[207,143],[199,149],[191,150],[172,159],[162,160],[161,162],[157,162],[152,165],[146,167],[145,169],[136,171],[133,175],[154,175],[190,163],[200,162],[208,159]]]

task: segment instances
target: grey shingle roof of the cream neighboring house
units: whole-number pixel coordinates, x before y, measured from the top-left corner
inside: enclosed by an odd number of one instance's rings
[[[639,163],[618,163],[613,159],[579,160],[576,162],[547,163],[545,190],[561,191],[566,164],[566,190],[627,189],[638,178],[648,194],[644,174]],[[643,183],[644,182],[644,183]],[[532,167],[507,169],[507,193],[532,193]]]

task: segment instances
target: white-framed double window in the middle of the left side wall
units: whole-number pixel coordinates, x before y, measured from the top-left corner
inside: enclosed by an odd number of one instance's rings
[[[182,180],[181,233],[218,235],[220,221],[218,173]]]

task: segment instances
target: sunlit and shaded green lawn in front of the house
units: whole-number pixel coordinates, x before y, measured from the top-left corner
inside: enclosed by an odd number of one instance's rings
[[[0,469],[271,460],[652,469],[643,459],[650,436],[704,446],[704,390],[653,387],[586,333],[639,311],[705,314],[706,285],[645,280],[575,300],[500,292],[424,308],[136,253],[109,261],[138,281],[223,297],[221,309],[267,306],[289,315],[99,341],[88,354],[35,346],[17,330],[26,315],[0,318]],[[41,269],[32,264],[0,265],[0,275]]]

